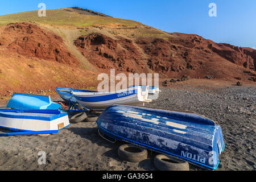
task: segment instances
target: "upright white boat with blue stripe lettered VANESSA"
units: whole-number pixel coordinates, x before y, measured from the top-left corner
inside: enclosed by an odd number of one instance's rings
[[[147,94],[143,94],[141,86],[118,90],[115,92],[72,92],[81,106],[91,110],[104,110],[112,104],[144,105],[144,102],[151,102]]]

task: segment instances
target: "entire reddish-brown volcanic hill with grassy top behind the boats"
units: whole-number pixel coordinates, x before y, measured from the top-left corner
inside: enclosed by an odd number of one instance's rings
[[[98,73],[111,68],[160,78],[256,81],[255,49],[78,7],[47,10],[42,18],[37,11],[0,16],[0,58],[0,93],[97,86]]]

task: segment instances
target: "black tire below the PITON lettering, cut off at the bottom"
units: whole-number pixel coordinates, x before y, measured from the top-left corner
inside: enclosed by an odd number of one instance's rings
[[[166,155],[156,155],[154,164],[160,171],[189,171],[188,162]]]

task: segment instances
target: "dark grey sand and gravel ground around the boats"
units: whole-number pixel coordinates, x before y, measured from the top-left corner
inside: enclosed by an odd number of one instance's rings
[[[255,170],[256,86],[171,85],[163,88],[150,106],[192,110],[218,121],[225,151],[218,171]],[[97,134],[96,123],[72,124],[59,134],[0,138],[0,170],[156,170],[148,159],[124,162],[117,156],[123,142],[109,143]],[[46,152],[46,164],[39,164],[39,152]],[[189,164],[191,170],[204,170]]]

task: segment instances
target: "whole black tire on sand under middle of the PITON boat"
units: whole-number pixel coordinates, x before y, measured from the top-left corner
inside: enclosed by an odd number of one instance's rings
[[[133,144],[123,144],[118,148],[118,157],[132,163],[138,163],[147,159],[147,150]]]

